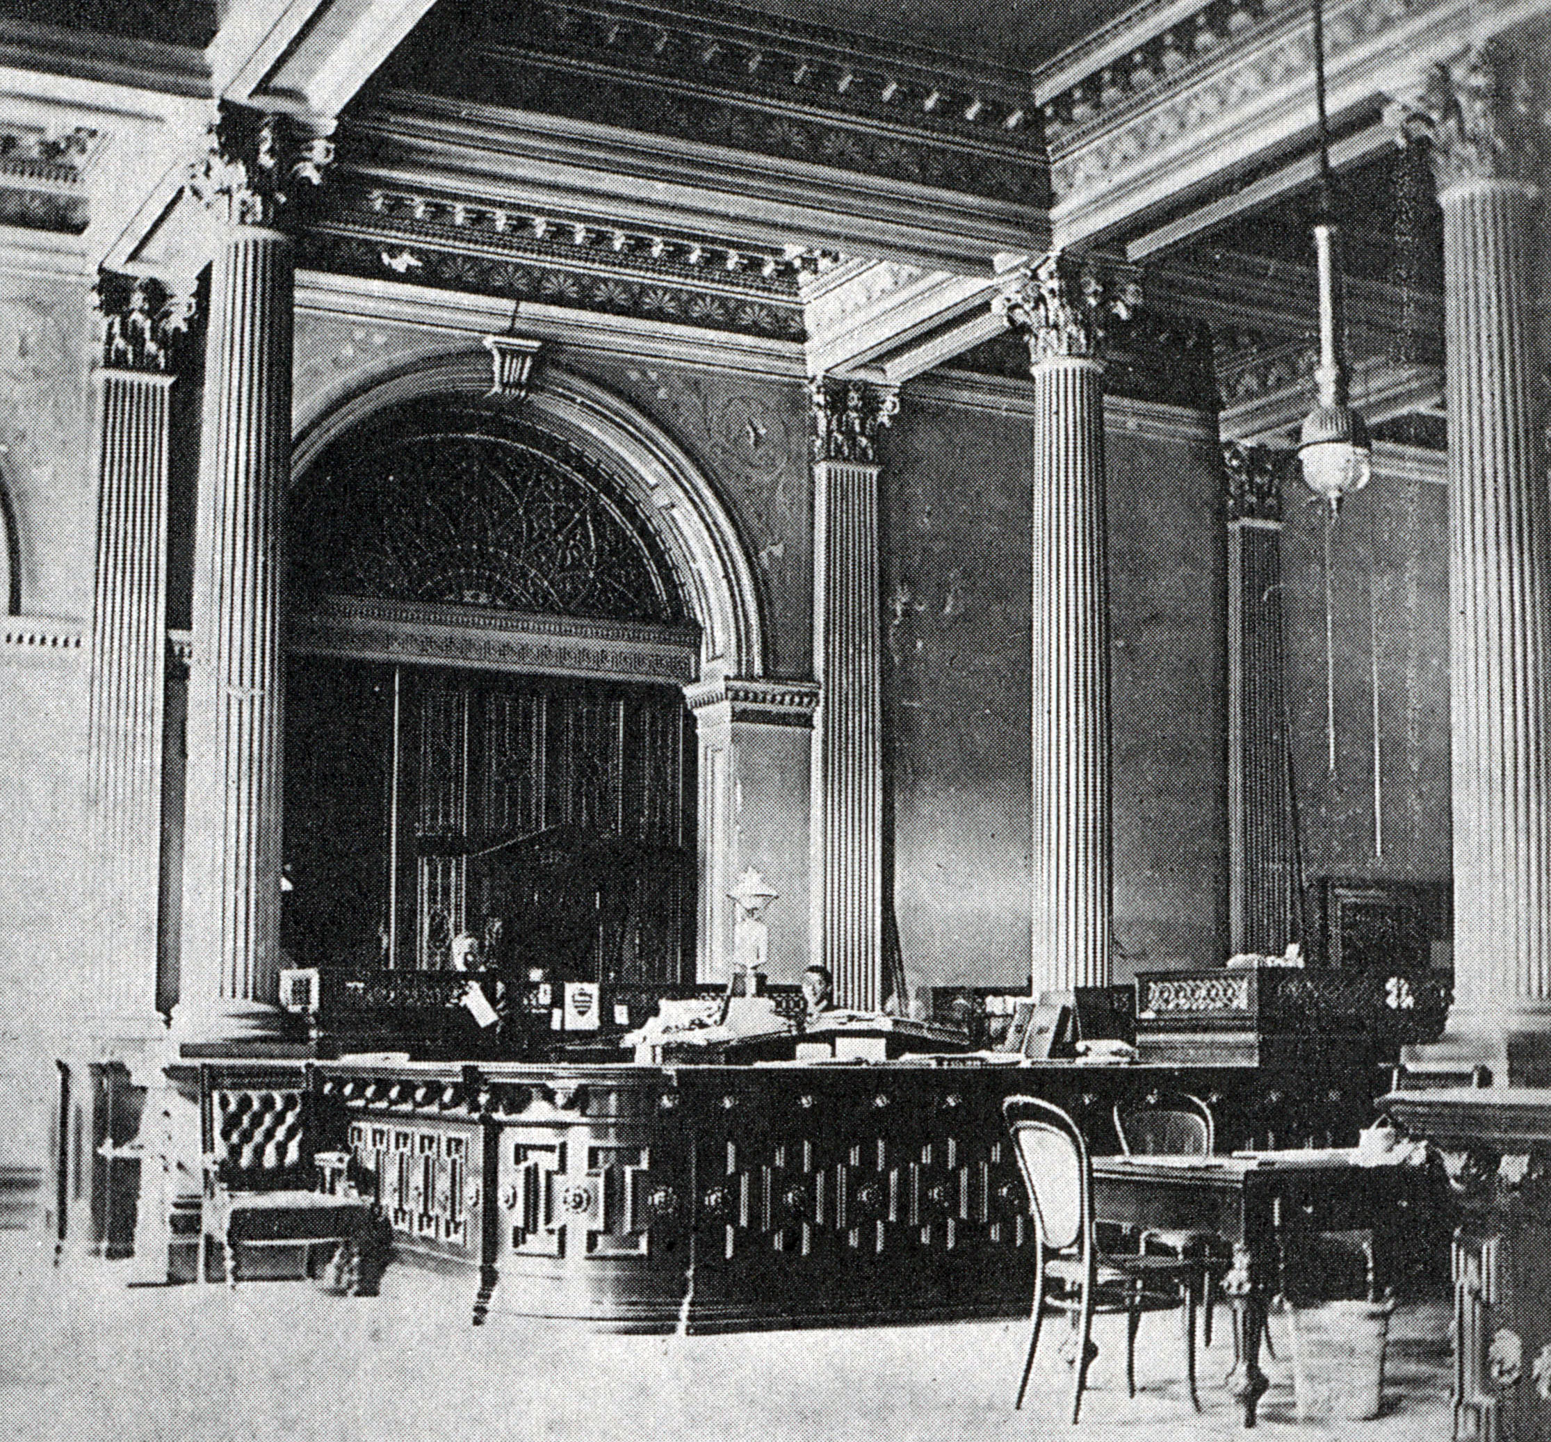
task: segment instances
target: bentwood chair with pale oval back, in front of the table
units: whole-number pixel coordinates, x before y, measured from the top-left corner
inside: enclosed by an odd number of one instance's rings
[[[1035,1223],[1035,1296],[1028,1355],[1014,1406],[1024,1405],[1047,1309],[1066,1313],[1073,1329],[1072,1420],[1083,1411],[1097,1313],[1126,1316],[1126,1391],[1137,1394],[1137,1329],[1143,1312],[1183,1312],[1185,1382],[1196,1397],[1196,1271],[1194,1261],[1104,1251],[1093,1219],[1093,1168],[1076,1123],[1036,1096],[1010,1096],[1002,1104],[1013,1138],[1028,1211]]]

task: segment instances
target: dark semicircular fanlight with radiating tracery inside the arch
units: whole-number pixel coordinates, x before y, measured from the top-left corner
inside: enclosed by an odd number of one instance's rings
[[[678,625],[672,564],[625,487],[507,414],[406,406],[293,490],[292,581],[329,594]]]

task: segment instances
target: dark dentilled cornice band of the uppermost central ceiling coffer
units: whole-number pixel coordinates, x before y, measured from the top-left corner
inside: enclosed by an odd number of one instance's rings
[[[436,22],[374,84],[382,110],[431,93],[1013,206],[1048,202],[1027,90],[924,53],[574,0],[520,0],[456,42],[437,43]]]

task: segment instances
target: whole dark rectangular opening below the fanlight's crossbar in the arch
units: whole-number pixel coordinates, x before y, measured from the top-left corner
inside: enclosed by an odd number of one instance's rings
[[[310,657],[290,687],[296,960],[442,969],[468,932],[510,971],[690,974],[695,749],[678,688]]]

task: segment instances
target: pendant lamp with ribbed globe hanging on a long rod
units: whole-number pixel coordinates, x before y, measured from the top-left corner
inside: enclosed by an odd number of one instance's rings
[[[1314,212],[1314,264],[1320,285],[1320,363],[1314,371],[1315,405],[1303,420],[1298,461],[1307,487],[1340,510],[1342,498],[1362,490],[1373,473],[1368,428],[1348,400],[1342,355],[1342,292],[1335,274],[1335,175],[1325,102],[1325,14],[1314,0],[1314,98],[1318,112],[1320,191]]]

